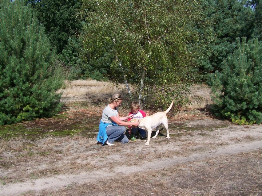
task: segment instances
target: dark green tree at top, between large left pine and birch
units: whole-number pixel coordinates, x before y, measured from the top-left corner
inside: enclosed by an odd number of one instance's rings
[[[79,0],[35,0],[28,1],[37,18],[44,25],[46,34],[58,54],[68,44],[69,36],[79,33],[81,21],[77,18],[77,12],[81,6]],[[68,46],[67,46],[68,48]],[[70,57],[69,57],[70,58]]]

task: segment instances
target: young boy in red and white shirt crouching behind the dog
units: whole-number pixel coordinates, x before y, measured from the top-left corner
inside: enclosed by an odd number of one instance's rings
[[[146,116],[149,116],[149,113],[145,113],[143,110],[140,110],[139,108],[139,103],[138,102],[132,102],[130,104],[130,109],[131,109],[131,112],[129,113],[130,114],[133,114],[133,116],[131,118],[128,118],[127,120],[130,121],[131,119],[133,118],[143,118],[143,117],[146,117]],[[136,141],[136,138],[135,136],[137,135],[137,131],[139,132],[140,136],[142,138],[146,138],[146,133],[145,133],[145,130],[144,129],[141,129],[141,128],[138,128],[138,127],[131,127],[131,126],[128,126],[128,134],[126,135],[129,135],[130,136],[130,139],[132,141]]]

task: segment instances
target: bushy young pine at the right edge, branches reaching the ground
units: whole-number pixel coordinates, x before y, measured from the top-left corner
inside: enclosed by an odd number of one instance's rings
[[[237,39],[237,49],[212,76],[216,114],[238,124],[262,122],[262,42]]]

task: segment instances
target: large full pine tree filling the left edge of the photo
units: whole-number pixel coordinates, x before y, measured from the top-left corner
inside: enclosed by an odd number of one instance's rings
[[[62,77],[43,26],[19,0],[1,1],[0,18],[0,125],[52,116]]]

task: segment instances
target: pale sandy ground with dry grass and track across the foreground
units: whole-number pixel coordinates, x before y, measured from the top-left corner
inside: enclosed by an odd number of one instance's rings
[[[9,141],[0,195],[262,195],[262,125],[192,112],[169,116],[170,139],[163,129],[149,146],[139,139],[101,146],[81,133]]]

